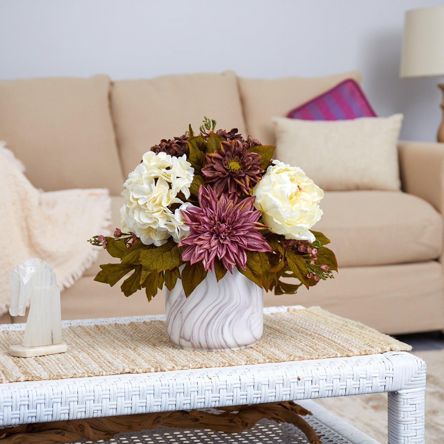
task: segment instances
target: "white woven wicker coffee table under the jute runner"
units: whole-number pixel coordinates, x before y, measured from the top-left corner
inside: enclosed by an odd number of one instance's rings
[[[285,308],[266,311],[280,309]],[[63,323],[106,324],[163,318],[159,315]],[[0,329],[24,329],[24,324],[0,325]],[[389,444],[424,443],[425,376],[426,365],[420,358],[405,352],[388,352],[214,369],[13,382],[0,384],[0,427],[388,392]],[[342,442],[375,442],[362,436]],[[135,442],[144,441],[137,438]]]

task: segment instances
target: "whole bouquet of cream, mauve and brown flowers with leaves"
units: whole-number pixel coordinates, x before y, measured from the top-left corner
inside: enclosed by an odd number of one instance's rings
[[[300,168],[272,160],[274,147],[215,128],[205,117],[199,134],[190,125],[143,155],[124,183],[121,228],[88,241],[120,259],[101,265],[95,281],[112,286],[132,272],[125,296],[144,288],[151,300],[178,279],[188,297],[208,272],[219,281],[234,267],[275,294],[333,277],[329,239],[311,230],[323,191]]]

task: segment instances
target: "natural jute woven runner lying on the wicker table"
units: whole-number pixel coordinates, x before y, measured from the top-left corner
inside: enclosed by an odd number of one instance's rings
[[[8,347],[23,331],[0,332],[0,382],[227,367],[408,351],[403,342],[319,307],[264,315],[256,345],[233,352],[194,352],[171,345],[164,321],[77,325],[63,329],[66,353],[18,358]]]

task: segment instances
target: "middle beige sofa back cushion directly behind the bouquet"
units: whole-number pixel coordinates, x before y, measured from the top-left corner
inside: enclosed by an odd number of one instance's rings
[[[204,115],[215,119],[218,129],[246,130],[231,71],[118,80],[111,87],[111,111],[124,174],[161,139],[182,135],[190,123],[198,132]]]

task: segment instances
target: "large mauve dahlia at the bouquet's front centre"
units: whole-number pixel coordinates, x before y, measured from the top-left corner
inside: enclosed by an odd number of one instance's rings
[[[199,205],[182,210],[190,234],[178,246],[186,245],[182,260],[202,261],[205,270],[213,271],[216,257],[233,273],[235,265],[246,268],[246,250],[271,251],[270,245],[258,232],[267,228],[258,222],[261,212],[254,210],[254,197],[235,205],[235,200],[222,194],[220,198],[209,186],[199,188]],[[236,198],[234,198],[236,199]]]

